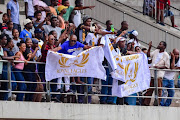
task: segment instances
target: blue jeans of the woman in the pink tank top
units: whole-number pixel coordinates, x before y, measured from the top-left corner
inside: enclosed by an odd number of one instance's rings
[[[14,68],[14,75],[16,78],[16,81],[25,81],[24,76],[22,74],[22,70]],[[26,84],[25,83],[18,83],[18,91],[25,91],[26,90]],[[16,101],[23,101],[24,93],[18,93],[16,97]]]

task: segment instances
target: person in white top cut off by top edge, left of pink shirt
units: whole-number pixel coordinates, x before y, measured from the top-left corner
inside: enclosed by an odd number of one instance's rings
[[[32,20],[34,18],[33,0],[24,0],[26,19]]]

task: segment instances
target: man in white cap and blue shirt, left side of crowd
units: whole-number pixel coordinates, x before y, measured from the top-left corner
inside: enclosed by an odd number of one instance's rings
[[[32,39],[32,33],[30,32],[30,30],[32,29],[33,24],[30,19],[25,19],[23,24],[24,24],[24,30],[20,33],[20,39],[25,42],[27,38]]]

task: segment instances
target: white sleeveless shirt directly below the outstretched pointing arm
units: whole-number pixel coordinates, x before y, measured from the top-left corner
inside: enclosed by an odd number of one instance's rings
[[[73,22],[74,22],[74,25],[78,27],[81,24],[81,12],[80,10],[74,10],[74,12],[75,12],[75,15],[74,15]]]

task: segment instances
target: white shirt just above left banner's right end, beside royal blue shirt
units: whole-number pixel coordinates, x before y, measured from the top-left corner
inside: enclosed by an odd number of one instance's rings
[[[88,45],[90,46],[96,46],[98,44],[98,40],[99,40],[99,35],[96,35],[94,33],[88,33],[88,35],[86,36],[86,43],[88,43]]]

